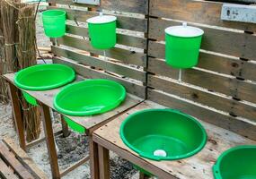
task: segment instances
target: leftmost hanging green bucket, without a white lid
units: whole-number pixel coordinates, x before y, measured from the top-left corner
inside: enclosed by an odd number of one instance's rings
[[[66,33],[66,12],[62,10],[48,10],[42,13],[45,34],[49,38],[60,38]]]

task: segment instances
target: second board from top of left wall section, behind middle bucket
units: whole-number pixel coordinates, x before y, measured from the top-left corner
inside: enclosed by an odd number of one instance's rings
[[[86,22],[87,19],[99,15],[97,12],[93,11],[84,11],[84,10],[75,10],[75,9],[68,9],[68,8],[59,8],[55,6],[49,6],[49,9],[62,9],[66,11],[66,19],[71,21],[81,21]],[[136,17],[128,17],[128,16],[121,16],[119,14],[114,14],[117,16],[117,27],[119,29],[125,30],[135,30],[146,32],[147,30],[147,20],[136,18]]]

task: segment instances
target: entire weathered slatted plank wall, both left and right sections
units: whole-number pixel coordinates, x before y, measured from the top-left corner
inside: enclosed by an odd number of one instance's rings
[[[221,21],[223,3],[214,1],[50,3],[68,19],[66,36],[52,47],[55,63],[71,65],[86,78],[119,81],[142,98],[147,85],[148,99],[256,140],[256,24]],[[91,47],[86,26],[102,11],[118,17],[118,45],[106,51],[108,60]],[[178,70],[164,62],[164,29],[182,21],[205,30],[205,36],[199,65],[182,71],[180,83]]]

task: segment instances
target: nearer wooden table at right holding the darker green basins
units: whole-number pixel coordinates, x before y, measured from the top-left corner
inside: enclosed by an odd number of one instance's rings
[[[164,107],[151,101],[145,101],[93,132],[93,141],[98,145],[101,179],[110,178],[109,150],[117,153],[121,158],[125,158],[133,164],[146,169],[146,171],[159,178],[212,179],[214,178],[212,166],[222,152],[237,145],[256,144],[256,141],[243,138],[234,132],[200,121],[207,130],[208,139],[205,148],[195,156],[176,161],[160,162],[140,158],[137,153],[129,149],[121,141],[119,127],[128,115],[148,108]],[[157,118],[155,122],[157,123]]]

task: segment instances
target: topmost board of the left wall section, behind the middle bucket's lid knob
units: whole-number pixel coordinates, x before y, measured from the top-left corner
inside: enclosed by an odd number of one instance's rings
[[[75,6],[90,6],[86,4],[75,4],[72,0],[55,0],[57,4],[69,4]],[[98,8],[118,11],[118,12],[128,12],[128,13],[148,13],[148,1],[147,0],[101,0],[101,5]],[[95,6],[94,8],[97,8]]]

